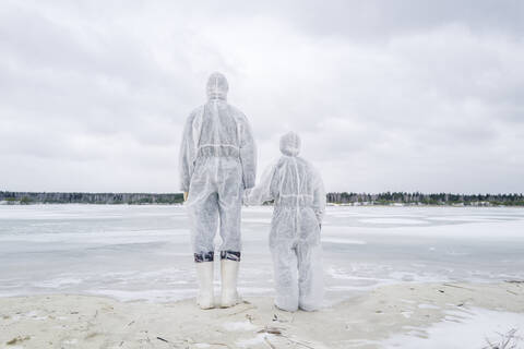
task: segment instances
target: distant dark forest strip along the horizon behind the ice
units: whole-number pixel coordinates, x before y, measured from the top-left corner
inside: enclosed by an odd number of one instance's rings
[[[386,192],[327,193],[327,202],[341,205],[452,205],[452,206],[524,206],[521,194],[422,194]],[[0,191],[0,204],[181,204],[181,193],[37,193]]]

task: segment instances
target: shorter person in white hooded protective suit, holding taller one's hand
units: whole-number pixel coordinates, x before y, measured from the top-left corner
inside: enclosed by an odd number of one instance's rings
[[[296,133],[283,135],[283,156],[243,196],[248,205],[274,200],[270,250],[274,265],[275,305],[290,312],[318,310],[323,298],[320,229],[325,191],[320,173],[298,156],[299,151],[300,139]]]

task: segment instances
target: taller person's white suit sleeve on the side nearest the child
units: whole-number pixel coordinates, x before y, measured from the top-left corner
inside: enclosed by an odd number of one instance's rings
[[[257,145],[246,117],[240,125],[240,163],[242,164],[243,189],[253,188],[257,178]]]

